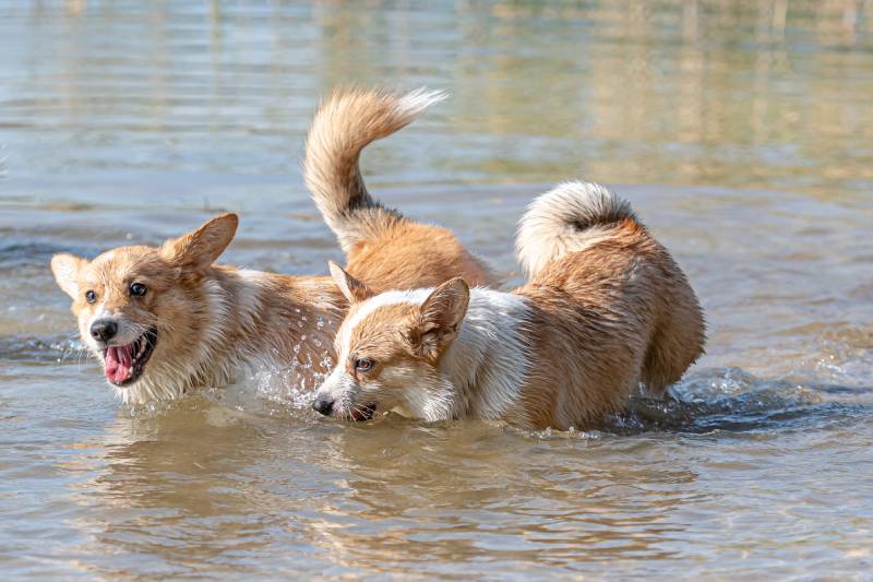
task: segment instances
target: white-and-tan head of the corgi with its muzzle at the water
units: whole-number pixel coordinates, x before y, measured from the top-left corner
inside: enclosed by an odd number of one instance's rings
[[[438,365],[467,312],[467,283],[456,277],[435,289],[374,295],[335,263],[331,274],[350,308],[336,334],[336,367],[313,408],[350,420],[392,409],[442,417],[449,394]]]

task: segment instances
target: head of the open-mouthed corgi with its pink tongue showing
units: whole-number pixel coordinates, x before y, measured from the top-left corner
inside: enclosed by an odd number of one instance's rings
[[[224,214],[160,247],[120,247],[93,261],[51,258],[58,285],[73,298],[82,340],[106,379],[122,390],[153,367],[180,368],[202,326],[202,280],[234,238],[236,214]],[[151,361],[151,364],[150,364]]]

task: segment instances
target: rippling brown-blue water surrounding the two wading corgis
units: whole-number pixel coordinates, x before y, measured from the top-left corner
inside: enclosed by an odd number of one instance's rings
[[[3,578],[870,577],[869,4],[2,2]],[[346,427],[259,382],[115,401],[50,254],[229,209],[228,262],[325,272],[299,161],[350,82],[452,93],[366,174],[511,281],[533,195],[627,197],[708,314],[678,402],[524,433]]]

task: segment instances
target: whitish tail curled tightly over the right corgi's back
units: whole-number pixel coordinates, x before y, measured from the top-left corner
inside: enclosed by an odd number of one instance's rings
[[[550,262],[608,238],[625,218],[636,221],[631,203],[599,183],[564,182],[530,203],[518,223],[515,251],[534,277]]]

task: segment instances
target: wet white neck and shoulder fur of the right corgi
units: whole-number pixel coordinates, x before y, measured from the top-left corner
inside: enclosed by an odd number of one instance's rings
[[[440,393],[423,399],[428,419],[500,419],[513,408],[529,368],[523,333],[529,307],[513,294],[475,288],[457,337],[440,358]]]

